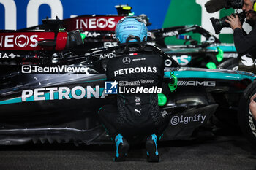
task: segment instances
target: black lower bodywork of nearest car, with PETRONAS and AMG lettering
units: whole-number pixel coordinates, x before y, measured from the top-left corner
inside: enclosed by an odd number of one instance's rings
[[[1,144],[110,142],[97,120],[97,111],[115,96],[105,94],[102,61],[108,59],[95,58],[76,56],[61,65],[48,66],[2,65],[8,72],[1,74]],[[166,60],[175,63],[171,58]],[[31,66],[31,72],[24,66]],[[45,69],[58,66],[83,67],[86,71],[49,73]],[[43,72],[34,72],[33,68],[39,67]],[[171,72],[178,78],[173,92],[168,90]],[[236,110],[241,93],[253,80],[255,76],[249,72],[166,67],[163,87],[168,100],[162,108],[170,115],[170,123],[161,140],[189,139],[217,110],[222,114]]]

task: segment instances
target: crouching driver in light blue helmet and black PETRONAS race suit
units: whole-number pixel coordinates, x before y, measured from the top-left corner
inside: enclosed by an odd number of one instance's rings
[[[125,161],[129,142],[135,136],[145,136],[148,161],[158,162],[157,140],[168,123],[157,96],[162,93],[163,58],[146,45],[147,28],[140,18],[120,20],[116,39],[118,50],[107,63],[106,75],[107,81],[118,83],[119,92],[115,104],[99,109],[99,120],[116,142],[114,161]]]

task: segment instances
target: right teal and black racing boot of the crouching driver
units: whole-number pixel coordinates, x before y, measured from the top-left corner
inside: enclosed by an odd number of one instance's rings
[[[157,135],[152,134],[148,136],[146,140],[146,151],[147,151],[147,158],[148,162],[158,162],[159,161],[159,154],[157,151]]]

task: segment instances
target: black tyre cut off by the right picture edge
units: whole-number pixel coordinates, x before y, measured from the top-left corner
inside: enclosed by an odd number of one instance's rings
[[[238,123],[241,131],[249,139],[252,145],[256,146],[256,121],[249,112],[250,98],[256,93],[256,81],[252,82],[244,90],[243,96],[239,103],[238,109]]]

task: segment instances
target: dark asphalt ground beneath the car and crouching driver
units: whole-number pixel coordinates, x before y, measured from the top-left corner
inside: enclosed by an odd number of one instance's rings
[[[192,141],[160,142],[159,163],[146,162],[143,145],[127,161],[113,162],[113,145],[26,144],[0,147],[0,169],[256,169],[256,149],[241,134],[203,134]]]

